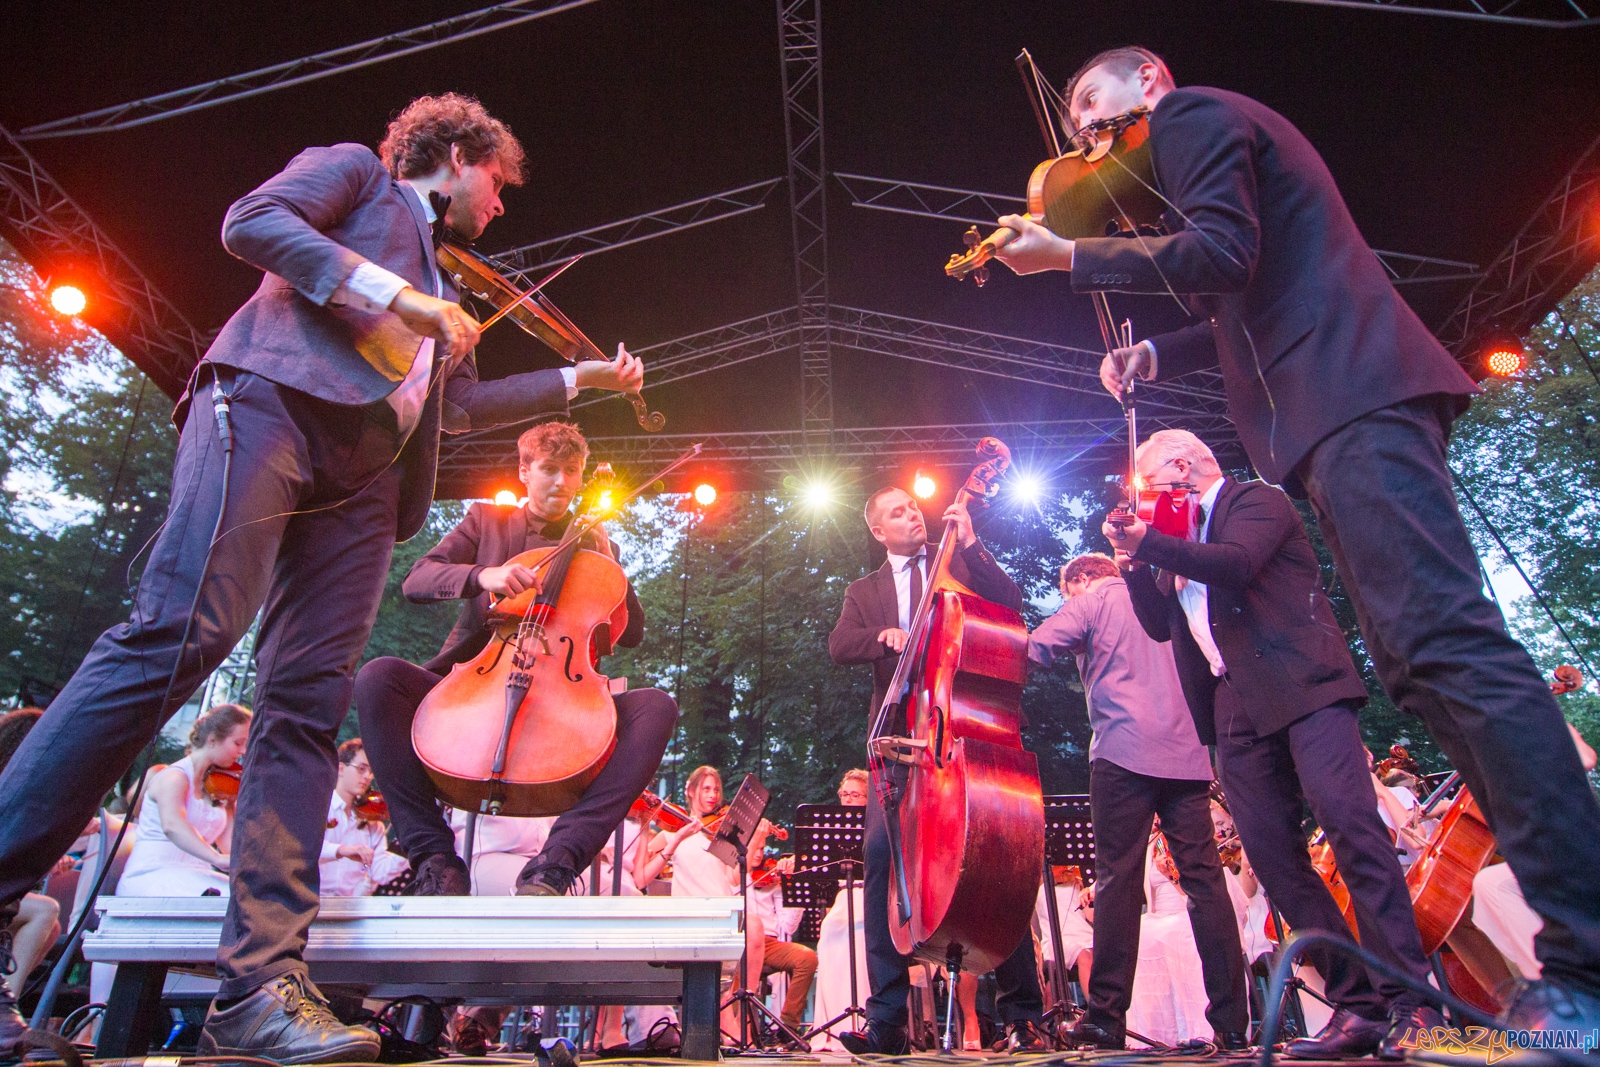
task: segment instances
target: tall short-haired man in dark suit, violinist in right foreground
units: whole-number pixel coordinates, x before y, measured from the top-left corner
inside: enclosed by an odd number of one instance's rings
[[[1197,325],[1112,352],[1131,374],[1219,366],[1256,470],[1309,498],[1395,704],[1422,718],[1482,805],[1544,920],[1542,979],[1512,1027],[1600,1027],[1600,803],[1562,712],[1483,595],[1446,438],[1477,387],[1406,307],[1326,165],[1283,115],[1238,93],[1176,88],[1117,48],[1062,96],[1069,133],[1150,107],[1166,237],[1069,242],[1019,216],[1000,259],[1069,270],[1075,291],[1189,298]]]

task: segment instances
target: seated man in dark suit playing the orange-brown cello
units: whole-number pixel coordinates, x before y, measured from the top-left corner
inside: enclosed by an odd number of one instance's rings
[[[528,491],[523,507],[474,504],[461,525],[419,558],[405,579],[414,603],[464,600],[461,617],[438,656],[418,667],[394,656],[374,659],[355,678],[355,710],[373,773],[384,782],[400,848],[416,870],[419,896],[467,896],[467,867],[456,854],[454,833],[440,813],[427,769],[411,747],[411,721],[422,697],[488,640],[490,595],[515,595],[538,579],[522,565],[507,565],[530,549],[554,545],[571,522],[568,509],[582,483],[589,443],[576,426],[544,422],[517,440],[517,478]],[[584,534],[584,547],[614,555],[605,531]],[[614,643],[638,645],[645,613],[627,590],[627,627]],[[520,896],[563,896],[605,848],[629,806],[650,785],[661,753],[677,726],[678,705],[661,689],[616,696],[616,750],[582,798],[563,813],[539,854],[517,877]]]

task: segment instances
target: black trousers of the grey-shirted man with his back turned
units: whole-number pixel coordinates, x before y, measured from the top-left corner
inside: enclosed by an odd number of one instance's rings
[[[1094,971],[1088,1021],[1109,1033],[1126,1029],[1133,974],[1139,963],[1144,854],[1154,814],[1189,897],[1189,923],[1200,950],[1208,998],[1205,1017],[1218,1033],[1250,1029],[1245,949],[1222,878],[1211,827],[1211,782],[1136,774],[1110,760],[1090,763],[1094,819]]]

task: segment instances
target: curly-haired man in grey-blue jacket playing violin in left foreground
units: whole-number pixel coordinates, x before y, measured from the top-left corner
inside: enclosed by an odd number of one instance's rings
[[[477,238],[504,213],[502,187],[522,178],[510,130],[450,93],[413,101],[379,152],[306,149],[229,208],[222,245],[262,272],[261,288],[178,405],[171,504],[133,616],[99,637],[0,777],[6,918],[264,608],[216,957],[222,987],[202,1056],[378,1056],[376,1033],[328,1011],[302,950],[334,734],[390,552],[427,515],[442,430],[558,414],[579,387],[637,390],[643,379],[619,350],[613,362],[478,381],[478,323],[437,267],[434,227]],[[22,1030],[0,992],[0,1059]]]

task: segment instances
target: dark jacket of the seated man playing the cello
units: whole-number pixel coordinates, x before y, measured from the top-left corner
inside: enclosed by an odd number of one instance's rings
[[[526,507],[474,504],[467,509],[467,517],[445,534],[443,541],[411,565],[400,587],[411,603],[466,598],[438,656],[422,664],[424,667],[445,673],[453,664],[477,656],[488,641],[490,630],[485,622],[490,617],[490,593],[478,585],[478,571],[485,566],[499,566],[528,549],[555,544],[566,530],[566,523],[562,522],[530,531],[530,522],[539,523]],[[587,536],[584,547],[590,547]],[[611,552],[616,553],[616,545]],[[611,643],[635,648],[642,640],[645,640],[645,608],[634,593],[634,582],[629,582],[627,629],[613,635]]]

